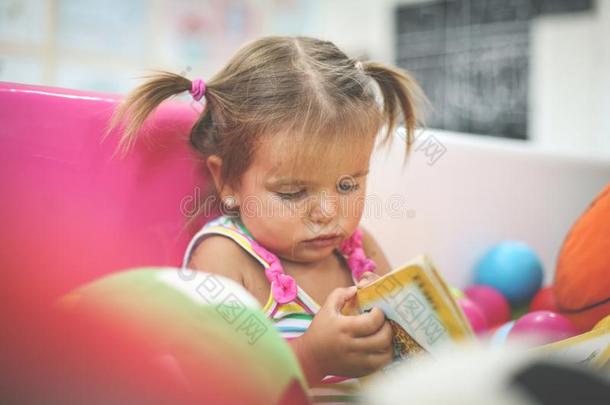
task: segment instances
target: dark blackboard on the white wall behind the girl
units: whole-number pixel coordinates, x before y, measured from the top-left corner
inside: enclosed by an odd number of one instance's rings
[[[527,139],[530,21],[592,0],[445,0],[396,9],[396,63],[431,101],[426,125]]]

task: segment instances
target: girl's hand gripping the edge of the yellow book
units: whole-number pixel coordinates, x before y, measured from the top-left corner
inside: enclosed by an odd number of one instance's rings
[[[379,308],[359,315],[341,313],[355,293],[356,287],[333,290],[307,331],[297,339],[299,360],[304,363],[310,384],[329,374],[367,375],[392,360],[392,328]]]

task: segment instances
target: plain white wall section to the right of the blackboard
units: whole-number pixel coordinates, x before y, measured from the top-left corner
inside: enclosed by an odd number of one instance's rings
[[[610,2],[532,25],[532,140],[610,158]]]

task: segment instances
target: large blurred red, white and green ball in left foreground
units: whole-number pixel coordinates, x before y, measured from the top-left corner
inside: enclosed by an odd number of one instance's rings
[[[231,280],[177,268],[106,276],[23,315],[2,403],[307,404],[290,347]]]

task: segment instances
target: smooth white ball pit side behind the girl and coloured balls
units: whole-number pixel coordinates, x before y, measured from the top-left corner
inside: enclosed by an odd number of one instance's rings
[[[393,146],[373,157],[363,225],[393,266],[424,253],[458,287],[503,240],[531,246],[550,282],[568,230],[610,179],[607,159],[517,140],[426,131],[404,168],[404,142]]]

